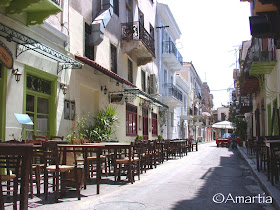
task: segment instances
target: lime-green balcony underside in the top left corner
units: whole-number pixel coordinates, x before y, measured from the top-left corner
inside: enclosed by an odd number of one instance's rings
[[[6,15],[24,25],[42,24],[45,19],[62,11],[60,0],[5,0],[0,3]]]

